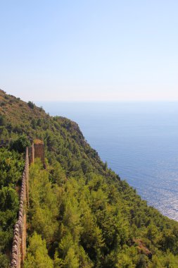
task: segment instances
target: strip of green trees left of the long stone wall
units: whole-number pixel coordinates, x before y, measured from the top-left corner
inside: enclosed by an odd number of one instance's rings
[[[13,227],[18,216],[18,185],[24,167],[17,152],[0,150],[0,267],[9,267]]]

